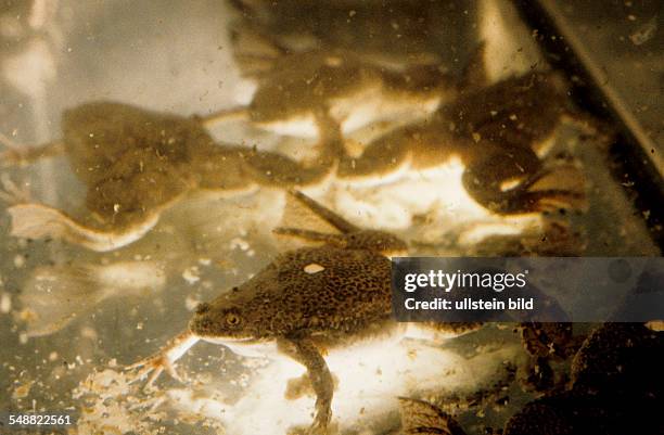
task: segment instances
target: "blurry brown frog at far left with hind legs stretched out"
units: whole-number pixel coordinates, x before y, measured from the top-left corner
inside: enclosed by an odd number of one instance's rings
[[[265,184],[288,188],[320,182],[335,167],[341,132],[329,118],[319,121],[336,144],[328,143],[306,166],[277,153],[216,143],[205,129],[206,118],[114,102],[81,104],[64,112],[62,140],[34,148],[8,144],[0,164],[31,163],[65,153],[87,187],[87,213],[73,217],[15,199],[8,209],[11,233],[63,239],[105,252],[142,238],[165,209],[187,195],[228,196]]]

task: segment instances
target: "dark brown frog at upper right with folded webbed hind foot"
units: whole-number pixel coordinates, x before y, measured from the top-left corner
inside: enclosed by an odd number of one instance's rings
[[[569,159],[547,167],[542,157],[563,120],[583,118],[567,107],[566,91],[562,77],[551,72],[470,86],[429,119],[378,138],[357,157],[345,155],[337,178],[353,183],[390,179],[405,168],[420,172],[456,158],[464,166],[467,192],[491,212],[583,209],[578,167]]]

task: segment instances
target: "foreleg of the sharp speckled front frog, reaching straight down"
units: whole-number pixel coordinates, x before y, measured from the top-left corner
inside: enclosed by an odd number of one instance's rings
[[[307,374],[316,393],[316,414],[309,434],[328,434],[332,420],[332,396],[334,381],[324,358],[307,337],[283,338],[278,342],[279,350],[293,358],[307,369]]]

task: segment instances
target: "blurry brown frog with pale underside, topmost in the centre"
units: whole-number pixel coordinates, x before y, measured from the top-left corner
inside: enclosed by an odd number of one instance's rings
[[[344,131],[376,119],[412,117],[456,94],[454,77],[440,65],[381,66],[350,50],[283,53],[260,73],[247,106],[210,115],[242,116],[280,135],[322,137],[311,121],[331,116]]]

